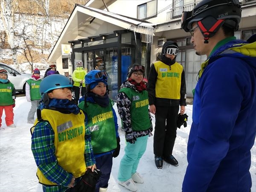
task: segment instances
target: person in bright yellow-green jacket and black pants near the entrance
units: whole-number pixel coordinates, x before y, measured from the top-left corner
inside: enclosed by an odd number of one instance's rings
[[[84,70],[83,61],[76,61],[76,70],[73,71],[72,79],[74,81],[73,90],[75,93],[75,102],[78,104],[80,98],[80,89],[81,96],[84,96],[85,93],[85,83],[84,76],[86,75],[86,71]]]

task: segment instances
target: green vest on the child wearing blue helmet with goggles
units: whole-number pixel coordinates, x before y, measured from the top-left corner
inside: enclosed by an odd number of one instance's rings
[[[87,114],[88,127],[91,133],[93,153],[99,154],[116,148],[116,128],[112,111],[113,101],[104,108],[96,103],[84,101],[79,103],[79,108]]]

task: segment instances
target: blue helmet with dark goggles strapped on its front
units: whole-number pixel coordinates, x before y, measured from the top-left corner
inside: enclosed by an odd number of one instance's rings
[[[101,70],[91,70],[85,75],[84,80],[85,84],[87,85],[98,81],[103,81],[105,84],[107,84],[108,73]]]

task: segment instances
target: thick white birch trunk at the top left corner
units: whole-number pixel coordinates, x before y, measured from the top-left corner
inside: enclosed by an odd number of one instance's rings
[[[13,64],[19,69],[17,62],[17,48],[15,47],[15,34],[14,34],[14,0],[1,0],[1,18],[3,20],[4,30],[7,35],[8,43],[12,50]]]

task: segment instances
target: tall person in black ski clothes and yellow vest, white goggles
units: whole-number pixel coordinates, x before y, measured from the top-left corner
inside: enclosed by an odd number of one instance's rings
[[[183,66],[176,62],[178,52],[179,47],[175,42],[164,43],[161,59],[151,65],[148,76],[149,111],[156,118],[154,156],[158,169],[162,169],[163,160],[173,166],[179,165],[172,151],[178,113],[185,112],[186,82]]]

